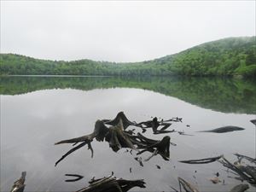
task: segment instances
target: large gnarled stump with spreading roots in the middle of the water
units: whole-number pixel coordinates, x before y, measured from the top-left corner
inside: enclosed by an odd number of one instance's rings
[[[117,119],[119,119],[119,122],[117,123],[117,125],[113,125],[117,122]],[[114,152],[117,152],[120,148],[131,148],[137,151],[138,149],[143,149],[137,154],[143,154],[145,151],[152,153],[152,155],[148,157],[147,160],[150,160],[156,154],[160,154],[164,160],[169,160],[169,148],[171,140],[170,137],[166,136],[163,137],[161,141],[158,141],[149,139],[147,137],[143,137],[143,135],[140,133],[134,135],[133,131],[125,131],[123,119],[125,120],[125,125],[127,126],[128,121],[125,117],[125,114],[119,113],[117,117],[111,121],[104,120],[105,123],[113,125],[109,128],[104,124],[104,121],[97,120],[95,129],[91,134],[55,143],[55,145],[61,143],[73,143],[73,145],[76,145],[79,143],[78,146],[70,149],[66,154],[64,154],[60,160],[57,160],[55,166],[57,166],[57,164],[61,162],[61,160],[64,160],[67,157],[67,155],[72,154],[74,151],[84,147],[86,144],[88,145],[88,148],[91,150],[91,157],[93,157],[93,148],[91,146],[91,142],[94,140],[94,138],[96,138],[96,140],[99,142],[102,142],[104,140],[107,141],[109,147],[112,148]]]

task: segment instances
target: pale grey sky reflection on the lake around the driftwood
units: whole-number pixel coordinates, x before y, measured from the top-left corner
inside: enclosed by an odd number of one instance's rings
[[[92,143],[93,159],[85,147],[54,166],[71,147],[68,144],[54,146],[53,143],[88,134],[96,119],[113,119],[119,111],[136,121],[148,120],[151,116],[182,117],[183,123],[173,123],[170,129],[195,136],[172,133],[172,142],[177,143],[177,147],[171,146],[172,160],[164,161],[156,156],[144,163],[144,167],[133,160],[134,155],[124,153],[125,150],[115,154],[108,148],[108,143],[96,142]],[[177,176],[180,176],[197,182],[201,191],[228,191],[239,182],[227,178],[220,164],[189,166],[181,165],[177,160],[217,154],[235,160],[231,154],[236,152],[252,156],[255,154],[255,128],[249,120],[254,118],[247,114],[214,112],[170,96],[137,89],[39,90],[20,96],[1,96],[1,191],[8,191],[22,171],[27,172],[26,191],[75,191],[87,185],[91,177],[107,176],[112,171],[117,177],[144,178],[148,187],[144,190],[170,190],[171,183],[177,187]],[[188,124],[190,128],[186,127]],[[195,132],[223,125],[241,126],[246,130],[225,134]],[[152,136],[150,131],[146,136],[163,137]],[[143,154],[144,157],[148,155]],[[193,177],[195,170],[196,179]],[[225,176],[230,185],[212,185],[207,179],[213,177],[214,172],[223,173],[221,176]],[[66,173],[78,173],[84,179],[65,183]]]

